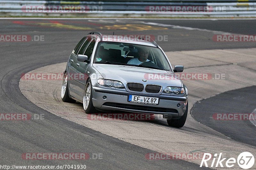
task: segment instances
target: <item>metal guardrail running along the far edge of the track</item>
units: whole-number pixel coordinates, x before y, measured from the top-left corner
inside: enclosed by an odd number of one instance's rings
[[[80,7],[85,11],[24,11],[26,7]],[[190,6],[206,7],[206,11],[179,11]],[[96,9],[95,9],[96,7]],[[99,7],[99,8],[97,8]],[[152,7],[174,7],[175,10],[150,10]],[[158,9],[159,9],[158,8]],[[185,8],[185,9],[186,9]],[[100,10],[99,10],[100,9]],[[164,8],[163,8],[164,9]],[[166,8],[167,9],[167,8]],[[0,0],[2,16],[67,16],[67,17],[256,17],[256,0],[92,0],[36,1]]]

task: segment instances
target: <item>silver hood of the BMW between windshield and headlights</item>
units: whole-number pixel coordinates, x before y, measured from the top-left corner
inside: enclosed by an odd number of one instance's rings
[[[93,67],[103,78],[121,81],[123,84],[138,82],[144,85],[162,85],[163,88],[164,86],[182,86],[180,78],[170,71],[113,64],[93,64]],[[142,80],[147,80],[147,82]]]

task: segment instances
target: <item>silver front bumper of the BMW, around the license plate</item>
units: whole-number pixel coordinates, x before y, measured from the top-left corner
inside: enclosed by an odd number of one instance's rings
[[[158,105],[128,102],[129,94],[158,97]],[[103,99],[103,96],[107,96]],[[92,86],[92,104],[102,110],[118,110],[134,113],[160,114],[165,116],[180,117],[186,111],[188,98],[182,96],[150,95],[136,92],[126,92]],[[180,107],[177,107],[180,104]]]

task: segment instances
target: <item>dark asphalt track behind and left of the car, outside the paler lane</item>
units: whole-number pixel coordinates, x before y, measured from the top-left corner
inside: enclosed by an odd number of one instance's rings
[[[1,164],[38,165],[38,164],[81,164],[81,160],[59,161],[43,160],[29,161],[21,159],[22,153],[27,152],[87,152],[103,153],[104,159],[89,159],[86,164],[91,169],[197,169],[198,165],[184,160],[148,161],[145,153],[148,149],[126,143],[119,139],[104,135],[100,132],[62,119],[58,116],[36,107],[28,101],[19,89],[22,73],[49,64],[66,62],[68,55],[77,42],[91,30],[100,30],[104,34],[146,34],[168,35],[168,41],[158,44],[167,51],[191,49],[222,49],[222,48],[252,48],[255,43],[214,42],[208,32],[197,30],[181,30],[175,28],[163,30],[134,30],[120,29],[118,25],[124,23],[100,23],[81,20],[60,20],[56,24],[50,20],[1,20],[0,33],[12,35],[44,35],[40,42],[0,42],[1,46],[1,89],[0,113],[30,113],[44,114],[44,121],[31,120],[29,122],[3,121],[0,123],[0,162]],[[163,23],[170,25],[202,28],[229,33],[255,34],[255,21],[227,20],[227,21],[172,21],[150,20],[144,22]],[[191,23],[189,23],[191,22]],[[40,24],[38,24],[40,23]],[[42,24],[44,23],[44,24]],[[51,23],[51,24],[45,24]],[[64,23],[64,24],[63,24]],[[138,24],[138,20],[136,23]],[[142,23],[139,23],[142,24]],[[67,27],[63,25],[72,25]],[[145,24],[144,24],[145,25]],[[148,24],[146,24],[148,26]],[[75,27],[74,27],[75,26]],[[90,29],[82,29],[81,27]],[[250,29],[248,29],[250,27]],[[164,28],[164,27],[163,27]],[[232,28],[230,30],[230,28]],[[243,32],[244,30],[244,32]],[[254,31],[254,32],[253,32]]]

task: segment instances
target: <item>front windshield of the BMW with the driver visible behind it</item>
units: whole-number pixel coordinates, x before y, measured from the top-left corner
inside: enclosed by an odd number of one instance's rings
[[[172,71],[161,49],[156,47],[100,42],[93,63],[120,64]]]

